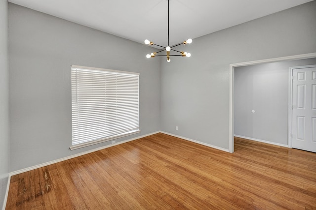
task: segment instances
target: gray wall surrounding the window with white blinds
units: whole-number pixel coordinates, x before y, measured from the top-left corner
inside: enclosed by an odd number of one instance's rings
[[[85,150],[72,144],[71,64],[140,73],[141,133],[159,130],[160,62],[148,46],[9,3],[11,171]]]

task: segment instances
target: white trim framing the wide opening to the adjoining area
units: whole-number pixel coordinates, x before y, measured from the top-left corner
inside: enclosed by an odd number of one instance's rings
[[[265,59],[265,60],[254,60],[248,62],[240,62],[240,63],[233,63],[230,64],[229,67],[229,152],[234,152],[234,74],[235,74],[235,67],[239,66],[248,66],[248,65],[255,65],[255,64],[262,64],[262,63],[270,63],[270,62],[278,62],[284,60],[301,60],[301,59],[312,59],[316,58],[316,53],[308,53],[308,54],[301,54],[295,56],[286,56],[286,57],[279,57],[274,59]],[[292,145],[291,145],[292,146]]]

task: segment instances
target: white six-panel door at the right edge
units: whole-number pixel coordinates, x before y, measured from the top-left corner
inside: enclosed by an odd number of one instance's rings
[[[316,152],[316,65],[291,69],[292,148]]]

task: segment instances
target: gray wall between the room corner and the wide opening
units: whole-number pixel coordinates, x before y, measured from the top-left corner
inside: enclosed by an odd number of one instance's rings
[[[315,23],[312,1],[179,47],[192,56],[161,62],[161,130],[228,150],[229,65],[316,52]]]

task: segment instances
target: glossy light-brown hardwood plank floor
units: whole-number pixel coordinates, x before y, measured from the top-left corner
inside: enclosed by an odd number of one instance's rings
[[[7,210],[316,209],[316,153],[158,133],[11,177]]]

